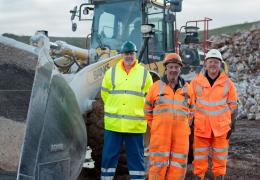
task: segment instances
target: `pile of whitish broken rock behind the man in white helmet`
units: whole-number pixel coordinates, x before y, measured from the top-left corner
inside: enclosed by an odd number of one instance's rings
[[[233,35],[212,36],[211,48],[222,51],[239,96],[238,117],[260,120],[260,24]]]

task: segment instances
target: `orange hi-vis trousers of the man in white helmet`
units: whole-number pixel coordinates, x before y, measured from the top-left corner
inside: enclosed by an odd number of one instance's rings
[[[219,137],[204,138],[194,136],[193,142],[193,173],[202,179],[208,170],[208,156],[212,150],[212,173],[214,176],[226,174],[226,164],[228,158],[229,141],[226,139],[227,134]]]

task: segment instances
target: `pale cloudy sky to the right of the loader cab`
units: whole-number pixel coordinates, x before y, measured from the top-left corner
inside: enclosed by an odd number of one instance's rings
[[[260,20],[257,7],[260,1],[254,0],[184,0],[183,11],[177,14],[178,25],[188,20],[212,18],[210,28],[253,22]],[[183,24],[182,24],[183,23]]]

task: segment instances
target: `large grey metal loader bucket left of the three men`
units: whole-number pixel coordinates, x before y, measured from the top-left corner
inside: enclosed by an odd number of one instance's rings
[[[74,92],[53,72],[47,49],[39,53],[17,180],[70,180],[80,173],[86,128]]]

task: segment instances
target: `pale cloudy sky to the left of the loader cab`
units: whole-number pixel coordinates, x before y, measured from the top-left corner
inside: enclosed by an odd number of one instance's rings
[[[69,11],[76,4],[63,0],[0,0],[0,34],[33,35],[46,29],[51,36],[86,36],[86,27],[77,34],[71,30]]]

